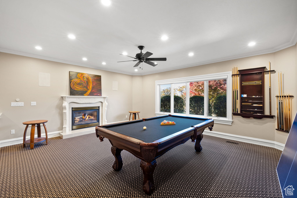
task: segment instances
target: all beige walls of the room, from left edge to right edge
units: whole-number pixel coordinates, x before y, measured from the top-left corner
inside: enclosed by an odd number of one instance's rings
[[[189,67],[168,72],[161,72],[144,76],[131,76],[82,66],[46,61],[7,53],[0,53],[0,140],[19,138],[23,136],[22,122],[37,119],[49,120],[48,132],[61,131],[63,128],[62,98],[69,95],[69,71],[84,72],[101,75],[102,96],[108,96],[107,121],[124,121],[128,111],[140,111],[140,117],[155,115],[155,81],[178,77],[212,74],[238,69],[255,67],[269,67],[276,73],[271,74],[272,114],[276,115],[276,99],[278,94],[278,72],[284,74],[285,94],[296,96],[297,76],[297,46],[270,53],[219,63]],[[39,72],[50,73],[50,87],[38,85]],[[269,75],[265,75],[266,99],[265,113],[269,114]],[[112,81],[118,81],[118,91],[112,90]],[[10,103],[24,102],[24,107],[11,107]],[[30,102],[37,102],[37,106],[30,106]],[[292,117],[296,114],[295,99],[292,100]],[[292,119],[293,119],[292,118]],[[286,132],[276,131],[276,118],[242,118],[233,116],[232,125],[215,124],[214,131],[255,137],[265,140],[285,143]],[[15,129],[15,134],[10,130]]]

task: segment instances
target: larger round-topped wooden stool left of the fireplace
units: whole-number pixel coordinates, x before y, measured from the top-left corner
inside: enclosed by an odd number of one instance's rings
[[[27,125],[24,131],[23,148],[25,148],[25,144],[29,144],[30,149],[34,149],[34,143],[40,143],[40,142],[46,141],[46,144],[48,144],[48,131],[46,130],[46,126],[45,126],[46,122],[48,122],[48,120],[32,120],[32,121],[23,122],[23,124]],[[29,124],[31,124],[30,140],[26,140],[26,133],[27,133]],[[41,137],[40,124],[43,124],[44,130],[45,130],[45,137]],[[34,138],[35,125],[37,125],[37,138]]]

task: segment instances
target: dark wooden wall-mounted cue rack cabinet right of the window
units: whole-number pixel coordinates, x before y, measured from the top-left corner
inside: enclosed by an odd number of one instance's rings
[[[240,112],[233,115],[240,115],[243,118],[273,118],[274,115],[264,114],[265,101],[265,72],[274,72],[274,70],[264,71],[266,67],[257,67],[252,69],[238,70],[239,74],[239,107]],[[246,96],[245,96],[246,95]],[[269,96],[268,96],[269,97]],[[272,105],[272,104],[271,104]],[[269,108],[269,104],[268,104]]]

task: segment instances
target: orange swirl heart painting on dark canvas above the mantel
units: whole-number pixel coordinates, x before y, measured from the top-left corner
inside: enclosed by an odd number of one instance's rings
[[[101,96],[101,76],[69,72],[70,96]]]

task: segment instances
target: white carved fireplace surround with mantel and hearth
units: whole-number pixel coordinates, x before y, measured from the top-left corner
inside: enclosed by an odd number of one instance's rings
[[[60,137],[65,139],[95,133],[95,126],[83,129],[72,129],[72,107],[99,107],[99,125],[107,124],[107,96],[61,96],[63,98],[63,132]]]

